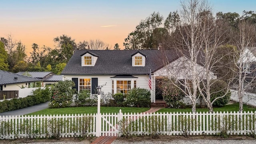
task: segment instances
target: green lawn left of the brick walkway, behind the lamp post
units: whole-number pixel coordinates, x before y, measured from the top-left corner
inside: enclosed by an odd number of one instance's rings
[[[123,113],[134,113],[134,112],[145,112],[150,108],[130,108],[130,107],[100,107],[101,113],[118,113],[119,110],[122,110]],[[97,106],[88,106],[88,107],[71,107],[71,108],[47,108],[44,110],[40,110],[38,112],[33,112],[28,115],[50,115],[50,114],[96,114]]]

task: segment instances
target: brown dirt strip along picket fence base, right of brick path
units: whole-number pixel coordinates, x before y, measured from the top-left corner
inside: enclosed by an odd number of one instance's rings
[[[126,141],[126,142],[134,142],[134,141],[162,141],[168,142],[171,140],[198,140],[198,139],[206,139],[206,140],[253,140],[254,138],[250,136],[237,136],[237,135],[229,135],[228,138],[221,138],[220,136],[189,136],[185,138],[184,136],[159,136],[159,138],[152,139],[150,136],[133,136],[129,138],[118,137],[116,140]]]

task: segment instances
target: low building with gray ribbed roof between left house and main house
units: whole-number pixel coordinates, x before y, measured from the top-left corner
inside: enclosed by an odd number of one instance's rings
[[[41,79],[42,87],[62,80],[61,75],[55,75],[53,72],[18,72],[17,74]]]

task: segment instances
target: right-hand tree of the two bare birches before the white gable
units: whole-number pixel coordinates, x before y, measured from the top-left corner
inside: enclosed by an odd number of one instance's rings
[[[226,65],[229,65],[228,63],[231,60],[229,60],[225,64],[219,65],[220,61],[226,57],[226,54],[216,54],[217,50],[219,50],[219,47],[225,44],[226,41],[226,30],[224,29],[224,27],[222,27],[222,21],[215,21],[211,11],[201,12],[199,18],[201,20],[199,27],[202,31],[200,39],[203,43],[201,51],[203,53],[202,57],[204,61],[204,80],[202,80],[200,86],[198,86],[198,91],[200,92],[200,95],[206,103],[209,112],[213,112],[213,103],[219,98],[223,98],[224,96],[229,94],[230,91],[229,87],[225,87],[218,91],[211,91],[211,87],[214,86],[214,83],[219,82],[218,80],[223,78],[218,77],[217,80],[217,77],[212,75],[212,72],[216,71],[219,68],[223,68]],[[230,81],[227,80],[226,82]],[[212,100],[212,94],[220,91],[225,91],[225,94],[223,94],[222,96],[218,96]]]

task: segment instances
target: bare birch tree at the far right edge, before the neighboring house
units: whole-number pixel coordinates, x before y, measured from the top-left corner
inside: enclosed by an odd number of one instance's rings
[[[236,46],[234,54],[234,84],[237,84],[239,112],[243,111],[243,96],[246,89],[253,86],[256,76],[256,48],[252,47],[256,40],[256,25],[246,20],[240,20],[238,28],[233,34],[233,43]]]

